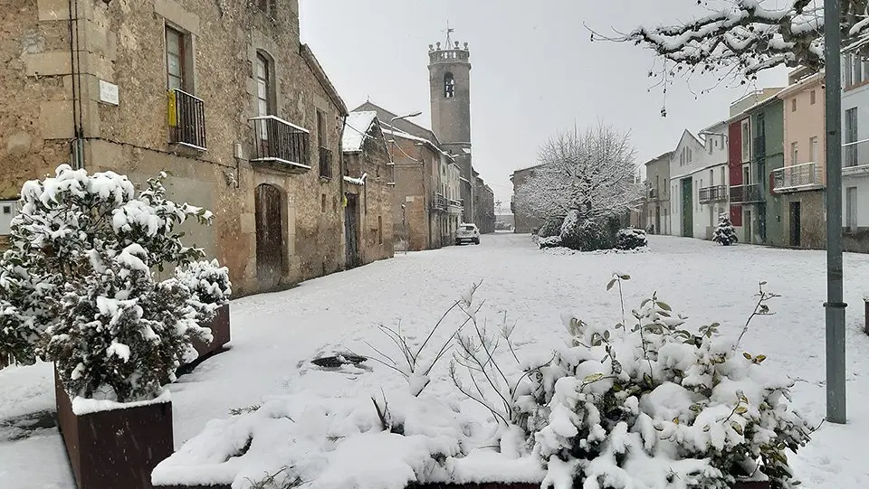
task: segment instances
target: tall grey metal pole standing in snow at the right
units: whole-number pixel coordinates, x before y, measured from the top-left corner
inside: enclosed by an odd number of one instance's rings
[[[841,0],[824,0],[826,66],[826,420],[845,423],[845,307],[842,296]]]

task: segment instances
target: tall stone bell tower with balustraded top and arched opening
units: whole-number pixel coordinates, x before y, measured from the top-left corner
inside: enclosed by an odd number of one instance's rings
[[[446,42],[428,46],[432,130],[444,151],[461,168],[464,221],[473,221],[473,169],[471,162],[471,52],[468,43],[453,41],[447,26]]]

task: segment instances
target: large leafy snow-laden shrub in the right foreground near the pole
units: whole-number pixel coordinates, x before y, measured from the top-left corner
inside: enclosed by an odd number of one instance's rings
[[[753,315],[769,297],[761,286]],[[791,487],[786,452],[811,432],[788,405],[793,382],[722,341],[718,324],[685,329],[656,296],[633,315],[612,329],[565,317],[569,345],[530,375],[517,419],[543,486],[725,489],[760,472]]]

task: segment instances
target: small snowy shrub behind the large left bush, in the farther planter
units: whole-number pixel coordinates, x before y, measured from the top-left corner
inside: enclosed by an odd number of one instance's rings
[[[175,269],[175,276],[190,291],[187,302],[196,309],[198,324],[211,321],[218,307],[229,304],[229,297],[233,294],[229,268],[221,267],[216,259],[182,265]]]

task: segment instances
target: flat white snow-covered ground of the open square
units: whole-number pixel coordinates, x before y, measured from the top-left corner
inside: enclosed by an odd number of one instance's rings
[[[814,424],[825,414],[823,251],[721,247],[701,240],[650,236],[650,252],[565,254],[535,249],[528,236],[483,236],[481,246],[408,253],[348,272],[311,280],[277,294],[244,297],[232,304],[232,349],[201,364],[170,386],[176,446],[230,409],[260,404],[264,396],[304,388],[306,361],[317,353],[346,348],[372,353],[366,341],[383,343],[377,324],[401,324],[403,332],[426,333],[473,282],[485,299],[481,317],[507,313],[515,321],[521,350],[547,348],[565,337],[562,312],[587,323],[616,324],[618,296],[607,292],[614,271],[630,274],[626,306],[636,307],[655,290],[688,326],[721,323],[737,335],[750,314],[758,283],[781,297],[777,314],[756,318],[744,349],[769,357],[765,366],[798,379],[794,401]],[[869,436],[869,337],[862,332],[863,296],[869,292],[869,255],[845,255],[848,344],[846,426],[825,423],[811,444],[792,459],[807,488],[863,489],[869,481],[864,439]],[[450,390],[446,362],[434,389]],[[339,375],[339,373],[336,373]],[[56,428],[22,433],[11,418],[53,409],[48,365],[0,371],[0,487],[69,488],[70,471]],[[358,375],[359,389],[400,385],[396,373],[377,364]],[[15,439],[29,434],[29,437]]]

